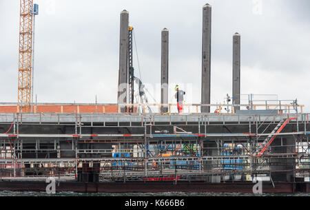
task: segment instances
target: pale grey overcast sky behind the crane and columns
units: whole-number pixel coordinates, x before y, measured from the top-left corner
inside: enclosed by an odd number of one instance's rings
[[[241,94],[298,98],[310,112],[308,0],[34,0],[34,94],[39,102],[116,103],[120,12],[130,12],[134,67],[160,103],[161,30],[169,83],[200,103],[203,6],[212,6],[211,103],[232,92],[232,36],[241,34]],[[260,8],[261,6],[261,8]],[[19,1],[0,0],[1,102],[17,101]],[[169,100],[174,94],[173,88]]]

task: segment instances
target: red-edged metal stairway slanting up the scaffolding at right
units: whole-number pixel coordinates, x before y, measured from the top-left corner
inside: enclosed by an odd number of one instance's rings
[[[256,150],[256,154],[254,156],[256,157],[262,156],[265,150],[271,145],[273,140],[275,140],[276,137],[278,136],[276,134],[279,134],[282,131],[282,129],[285,128],[285,125],[289,123],[289,120],[296,120],[296,119],[297,118],[288,118],[288,119],[283,118],[282,120],[280,120],[278,125],[271,132],[271,134],[269,134],[267,138],[262,142],[262,144],[258,147],[258,149]]]

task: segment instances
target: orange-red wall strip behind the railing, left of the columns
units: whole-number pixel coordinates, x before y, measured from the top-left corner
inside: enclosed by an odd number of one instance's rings
[[[63,105],[63,113],[74,113],[74,106]],[[34,111],[36,106],[34,106]],[[75,110],[78,113],[96,113],[95,105],[75,106]],[[17,112],[17,106],[0,106],[0,113],[15,113]],[[38,105],[37,112],[43,113],[61,113],[61,105]],[[117,113],[116,105],[97,106],[98,113]]]

